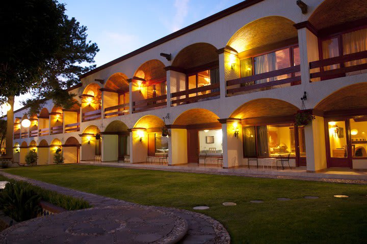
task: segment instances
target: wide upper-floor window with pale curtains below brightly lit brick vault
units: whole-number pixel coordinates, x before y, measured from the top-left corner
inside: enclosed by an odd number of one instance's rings
[[[247,77],[274,70],[280,70],[300,64],[300,54],[298,46],[283,48],[265,54],[247,57],[240,61],[241,77]],[[281,75],[267,79],[257,80],[251,84],[259,84],[274,80],[289,78],[294,74]],[[245,84],[245,85],[251,85]]]

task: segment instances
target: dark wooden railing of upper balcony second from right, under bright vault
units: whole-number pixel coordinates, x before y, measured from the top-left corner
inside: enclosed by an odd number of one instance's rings
[[[292,67],[289,67],[289,68],[274,70],[274,71],[270,71],[270,72],[262,73],[262,74],[258,74],[258,75],[252,75],[252,76],[242,77],[242,78],[238,78],[238,79],[234,79],[234,80],[228,80],[227,81],[227,95],[246,92],[248,90],[271,87],[271,86],[275,86],[275,85],[282,85],[282,84],[287,84],[287,83],[300,82],[301,81],[301,76],[296,76],[296,74],[295,74],[295,73],[300,72],[300,71],[301,71],[301,66],[296,65],[296,66],[292,66]],[[269,81],[269,82],[264,82],[264,83],[259,83],[259,84],[255,83],[257,80],[275,78],[275,77],[281,76],[281,75],[290,75],[292,77],[285,78],[285,79],[280,79],[280,80]],[[241,86],[240,87],[229,88],[229,86],[232,86],[232,85],[237,85],[237,86],[241,85]]]

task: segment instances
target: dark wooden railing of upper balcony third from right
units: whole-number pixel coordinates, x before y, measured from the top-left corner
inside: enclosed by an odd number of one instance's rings
[[[190,97],[190,95],[194,96]],[[183,96],[185,96],[185,98],[181,98]],[[180,92],[171,94],[171,106],[174,106],[174,104],[180,105],[186,103],[196,103],[201,99],[213,98],[217,96],[220,96],[219,83],[188,90],[181,90]]]

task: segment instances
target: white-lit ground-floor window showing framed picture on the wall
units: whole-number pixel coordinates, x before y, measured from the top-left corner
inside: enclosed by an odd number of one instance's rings
[[[200,153],[221,154],[223,152],[222,129],[199,131]]]

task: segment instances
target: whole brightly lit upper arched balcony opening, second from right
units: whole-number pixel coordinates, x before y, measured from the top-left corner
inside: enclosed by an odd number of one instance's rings
[[[234,33],[224,52],[227,95],[300,84],[298,32],[294,24],[281,16],[269,16]]]

